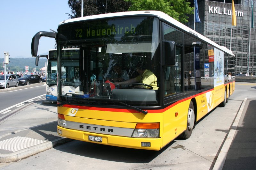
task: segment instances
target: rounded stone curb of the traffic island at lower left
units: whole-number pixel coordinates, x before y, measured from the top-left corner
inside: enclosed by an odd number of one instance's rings
[[[0,163],[15,162],[15,161],[18,161],[20,159],[24,159],[24,158],[30,157],[32,155],[35,155],[39,152],[46,151],[46,150],[51,149],[55,146],[65,144],[65,143],[70,142],[72,140],[73,139],[60,137],[58,139],[55,139],[55,140],[52,140],[52,141],[49,141],[49,142],[45,142],[43,144],[38,144],[36,146],[26,148],[26,149],[23,149],[23,150],[14,152],[14,153],[0,154]]]

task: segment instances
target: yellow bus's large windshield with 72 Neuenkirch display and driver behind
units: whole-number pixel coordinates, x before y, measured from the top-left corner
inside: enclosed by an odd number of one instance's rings
[[[59,54],[58,67],[61,73],[66,73],[58,86],[60,100],[160,105],[158,18],[140,16],[66,23],[59,26],[58,37],[58,49],[79,48],[78,55]],[[129,83],[133,78],[137,81]],[[146,78],[150,82],[144,81]]]

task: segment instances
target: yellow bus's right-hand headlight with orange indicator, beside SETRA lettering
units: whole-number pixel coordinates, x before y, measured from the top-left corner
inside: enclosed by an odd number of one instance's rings
[[[137,123],[132,137],[159,137],[159,123]]]

